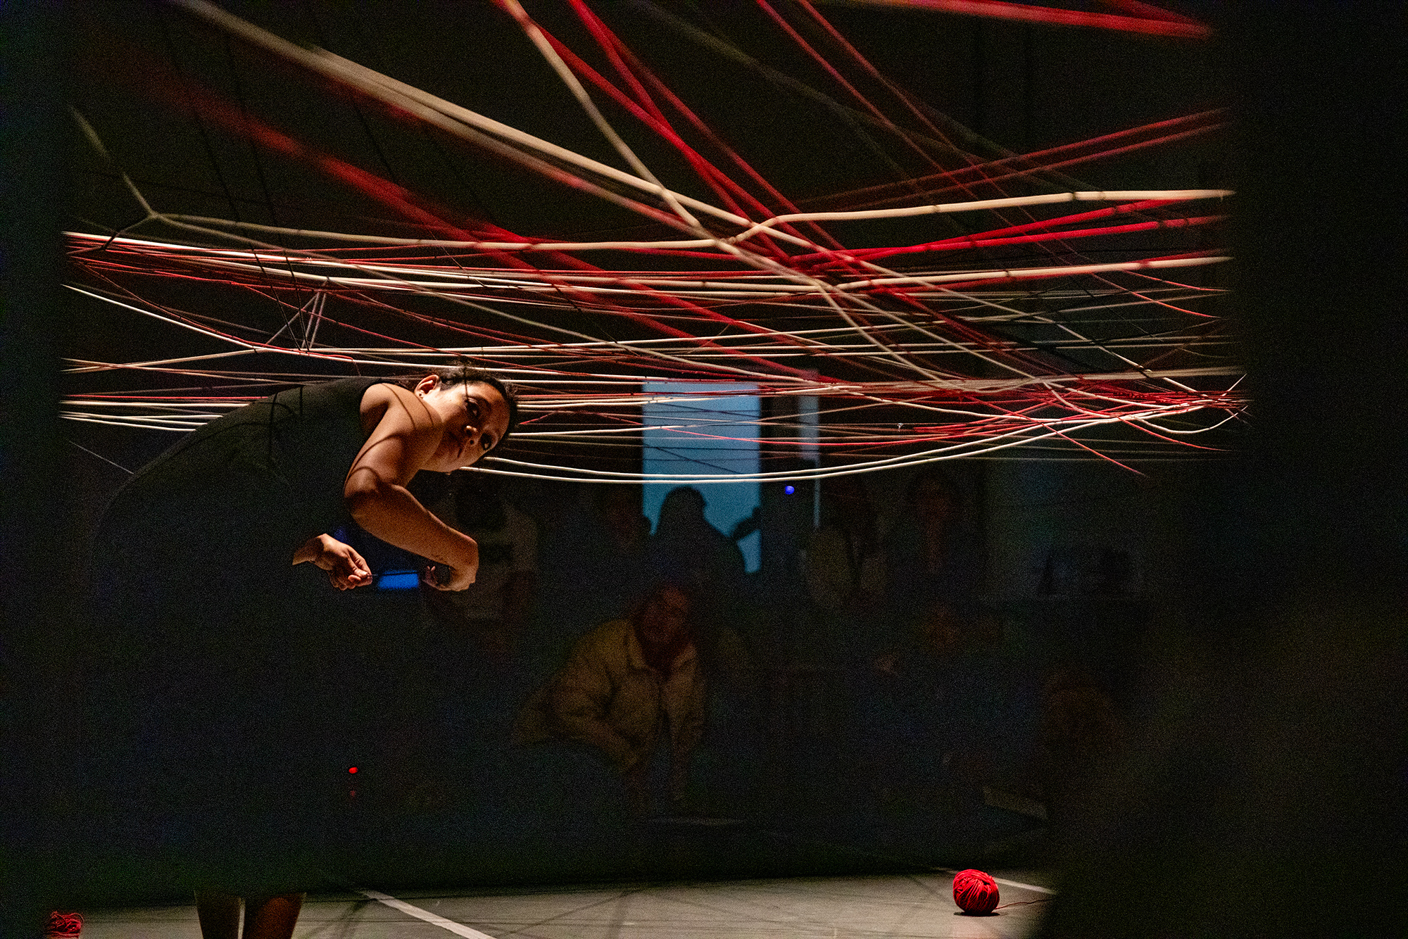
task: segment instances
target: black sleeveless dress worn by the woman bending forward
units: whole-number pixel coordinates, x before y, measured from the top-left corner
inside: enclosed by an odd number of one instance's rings
[[[320,749],[324,572],[376,379],[282,391],[197,429],[113,498],[94,542],[90,773],[114,838],[196,886],[293,891],[345,767]]]

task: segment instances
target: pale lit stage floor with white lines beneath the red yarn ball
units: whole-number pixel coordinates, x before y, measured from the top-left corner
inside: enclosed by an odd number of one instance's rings
[[[1036,933],[1052,881],[990,870],[1001,902],[953,904],[952,873],[310,895],[294,939],[1019,939]],[[199,939],[193,905],[82,911],[84,939]]]

